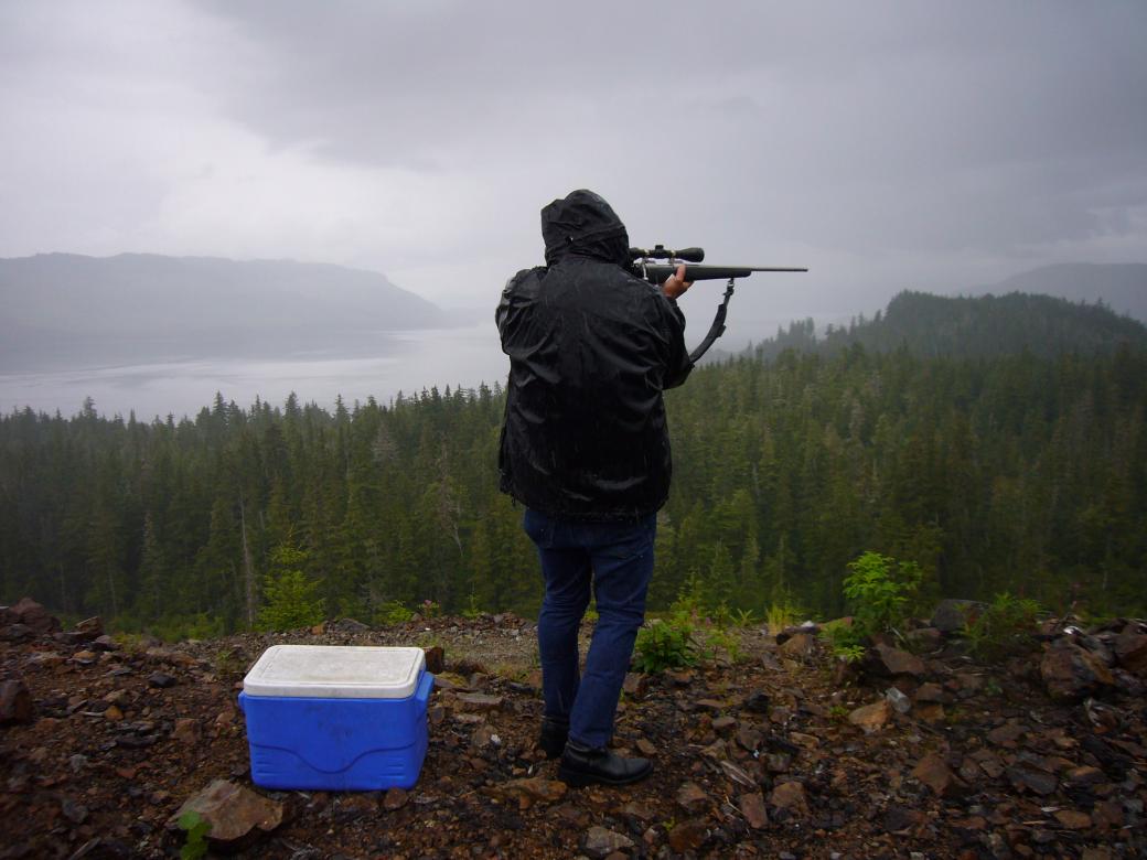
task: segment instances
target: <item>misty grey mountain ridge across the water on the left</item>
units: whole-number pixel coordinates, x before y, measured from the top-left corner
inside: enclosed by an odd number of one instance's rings
[[[0,362],[283,355],[450,325],[382,274],[290,260],[122,253],[0,259]]]

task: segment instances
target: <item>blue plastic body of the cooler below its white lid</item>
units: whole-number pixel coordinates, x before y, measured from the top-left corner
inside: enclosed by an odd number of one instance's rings
[[[413,788],[427,752],[434,675],[406,698],[306,698],[239,694],[251,780],[274,789]]]

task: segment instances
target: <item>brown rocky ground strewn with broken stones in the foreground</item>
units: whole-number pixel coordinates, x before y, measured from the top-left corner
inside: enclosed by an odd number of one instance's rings
[[[567,789],[513,616],[163,646],[60,632],[26,601],[0,615],[0,858],[194,855],[186,804],[211,852],[249,858],[1147,855],[1141,623],[1059,625],[991,666],[931,630],[851,669],[814,631],[743,631],[740,660],[629,678],[616,745],[651,777]],[[251,784],[235,696],[282,642],[428,649],[414,789]]]

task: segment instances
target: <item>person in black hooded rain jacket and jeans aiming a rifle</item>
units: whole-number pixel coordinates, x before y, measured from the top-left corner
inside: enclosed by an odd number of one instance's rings
[[[662,392],[692,369],[676,299],[631,269],[610,205],[576,190],[541,210],[546,265],[523,269],[497,311],[509,355],[500,484],[525,507],[545,596],[538,617],[545,711],[539,746],[572,785],[635,782],[645,758],[609,749],[654,564],[671,459]],[[578,627],[598,623],[579,672]]]

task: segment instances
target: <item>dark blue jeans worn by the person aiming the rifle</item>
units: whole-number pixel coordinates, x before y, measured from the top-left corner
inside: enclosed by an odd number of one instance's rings
[[[617,699],[645,620],[657,517],[578,523],[526,510],[523,526],[538,547],[546,584],[538,616],[546,717],[568,719],[576,743],[604,746],[614,734]],[[590,605],[591,585],[598,624],[583,675],[577,634]]]

